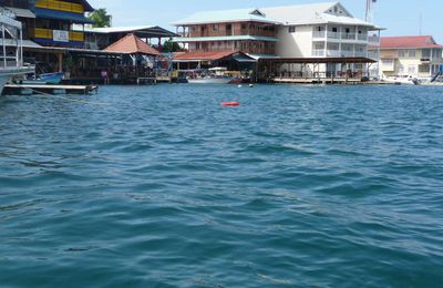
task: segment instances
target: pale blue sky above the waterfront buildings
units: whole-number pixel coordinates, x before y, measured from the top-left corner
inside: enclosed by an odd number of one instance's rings
[[[157,24],[172,29],[171,22],[197,11],[260,8],[271,6],[329,2],[316,0],[90,0],[95,8],[106,8],[113,16],[114,25]],[[340,1],[354,17],[364,18],[365,0]],[[443,29],[440,18],[443,12],[442,0],[378,0],[375,23],[388,28],[384,35],[408,35],[420,33],[422,14],[422,34],[434,35],[443,43]],[[175,30],[174,30],[175,31]]]

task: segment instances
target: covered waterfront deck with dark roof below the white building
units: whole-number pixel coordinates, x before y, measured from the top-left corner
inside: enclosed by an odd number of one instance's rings
[[[369,78],[369,68],[373,63],[377,61],[369,58],[264,58],[258,60],[256,81],[300,84],[360,83]],[[353,69],[354,64],[365,65],[365,69]],[[321,65],[333,65],[334,70],[324,72]],[[338,65],[340,71],[337,71]]]

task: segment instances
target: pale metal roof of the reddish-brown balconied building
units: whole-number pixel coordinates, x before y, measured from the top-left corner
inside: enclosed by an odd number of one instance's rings
[[[220,22],[243,22],[255,21],[265,23],[278,23],[258,9],[235,9],[235,10],[219,10],[197,12],[188,18],[179,20],[173,25],[188,25],[197,23],[220,23]]]

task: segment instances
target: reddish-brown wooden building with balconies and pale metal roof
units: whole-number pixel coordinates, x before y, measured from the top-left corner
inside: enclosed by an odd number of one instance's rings
[[[278,24],[259,9],[199,12],[174,23],[181,35],[174,41],[184,43],[190,53],[241,50],[272,56]]]

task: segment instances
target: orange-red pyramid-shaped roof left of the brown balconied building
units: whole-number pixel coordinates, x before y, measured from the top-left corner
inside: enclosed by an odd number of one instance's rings
[[[147,54],[159,55],[161,53],[154,48],[150,47],[134,34],[127,34],[117,42],[111,44],[105,51],[120,52],[124,54]]]

